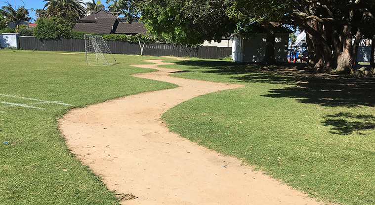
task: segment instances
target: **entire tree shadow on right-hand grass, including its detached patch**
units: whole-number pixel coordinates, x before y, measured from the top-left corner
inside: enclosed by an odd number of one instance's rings
[[[260,82],[291,85],[272,89],[263,96],[269,98],[291,98],[301,103],[319,104],[328,107],[375,106],[375,78],[358,78],[349,75],[311,73],[286,67],[261,67],[220,61],[185,61],[177,64],[189,69],[205,68],[206,73],[233,75],[240,82]],[[243,75],[237,75],[243,74]],[[236,76],[237,75],[237,76]],[[333,126],[331,133],[349,135],[353,132],[375,128],[374,115],[337,113],[327,115],[324,126]]]

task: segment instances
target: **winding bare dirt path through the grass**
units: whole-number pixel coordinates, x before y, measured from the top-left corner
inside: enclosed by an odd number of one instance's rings
[[[180,87],[141,93],[70,111],[60,120],[68,147],[111,190],[132,193],[124,205],[317,205],[241,161],[168,132],[162,114],[199,95],[240,85],[170,77],[175,69],[135,76]],[[209,103],[209,102],[208,102]]]

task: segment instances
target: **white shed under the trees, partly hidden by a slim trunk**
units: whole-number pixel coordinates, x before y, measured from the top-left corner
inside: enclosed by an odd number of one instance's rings
[[[236,35],[232,44],[232,60],[239,63],[259,63],[264,58],[267,34],[253,34],[246,38]],[[276,34],[275,58],[279,62],[288,61],[289,34]]]

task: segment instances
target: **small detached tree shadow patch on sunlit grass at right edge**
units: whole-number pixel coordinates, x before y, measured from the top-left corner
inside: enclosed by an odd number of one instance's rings
[[[338,135],[349,135],[353,132],[371,130],[375,128],[374,115],[355,115],[350,112],[339,112],[324,117],[324,126],[333,126],[330,133]]]

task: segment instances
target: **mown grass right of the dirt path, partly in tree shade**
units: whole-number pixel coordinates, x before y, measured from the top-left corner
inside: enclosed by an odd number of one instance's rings
[[[176,61],[173,76],[239,83],[168,110],[171,131],[282,179],[311,197],[375,204],[375,80]],[[272,68],[271,68],[272,69]]]

